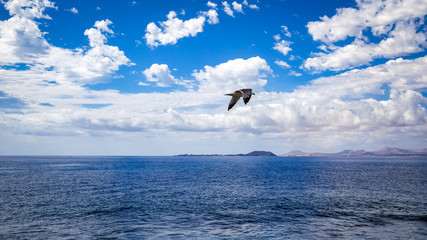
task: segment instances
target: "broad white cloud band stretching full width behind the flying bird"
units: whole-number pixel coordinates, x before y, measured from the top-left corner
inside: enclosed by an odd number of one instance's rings
[[[427,100],[419,91],[427,86],[426,64],[427,57],[397,59],[319,78],[288,93],[263,90],[272,72],[259,57],[205,66],[193,73],[198,90],[170,93],[122,94],[111,90],[92,91],[75,84],[41,85],[46,79],[57,79],[57,73],[40,75],[34,70],[2,69],[2,91],[20,96],[29,107],[22,110],[24,114],[0,115],[0,124],[33,136],[123,137],[167,133],[169,139],[180,133],[186,137],[192,133],[208,137],[209,133],[232,132],[239,138],[262,135],[277,141],[294,139],[307,146],[325,148],[360,143],[360,139],[381,141],[385,136],[425,143]],[[167,66],[160,66],[152,68],[161,75],[151,75],[157,78],[156,83],[160,78],[169,82],[176,80]],[[253,88],[257,95],[248,105],[240,104],[227,112],[229,98],[223,94],[243,87]],[[375,94],[388,99],[369,97]],[[63,97],[67,95],[73,98]],[[38,105],[45,102],[54,107]],[[87,103],[111,105],[99,109],[78,107]],[[323,141],[318,141],[320,139]]]

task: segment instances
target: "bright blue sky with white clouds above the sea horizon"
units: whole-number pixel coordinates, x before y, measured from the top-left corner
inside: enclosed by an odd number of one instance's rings
[[[427,146],[426,1],[1,5],[0,154]]]

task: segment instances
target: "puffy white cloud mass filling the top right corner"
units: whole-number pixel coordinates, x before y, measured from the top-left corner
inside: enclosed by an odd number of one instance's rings
[[[427,12],[425,1],[358,1],[357,8],[338,9],[329,18],[309,22],[314,40],[322,41],[326,52],[315,54],[304,63],[314,71],[344,70],[367,65],[376,58],[394,58],[421,52],[426,47],[426,33],[420,31]],[[417,6],[414,8],[413,6]],[[378,43],[370,43],[364,31],[370,31]],[[345,46],[333,43],[354,37]]]

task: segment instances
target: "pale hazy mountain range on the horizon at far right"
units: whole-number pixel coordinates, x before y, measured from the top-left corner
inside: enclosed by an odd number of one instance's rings
[[[344,150],[337,153],[318,153],[318,152],[301,152],[298,150],[290,151],[281,156],[286,157],[295,157],[295,156],[412,156],[412,155],[426,155],[427,156],[427,148],[417,149],[417,150],[407,150],[396,147],[385,147],[377,151],[368,152],[365,150]]]

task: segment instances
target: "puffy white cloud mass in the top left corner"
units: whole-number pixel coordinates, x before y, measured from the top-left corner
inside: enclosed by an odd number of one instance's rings
[[[110,20],[95,22],[84,34],[89,39],[87,50],[64,49],[49,44],[38,28],[37,18],[47,18],[43,11],[49,1],[8,1],[5,3],[11,18],[0,22],[0,56],[2,65],[23,64],[41,74],[56,72],[57,81],[76,81],[82,84],[99,81],[130,60],[115,46],[107,45],[103,33],[113,33]]]

